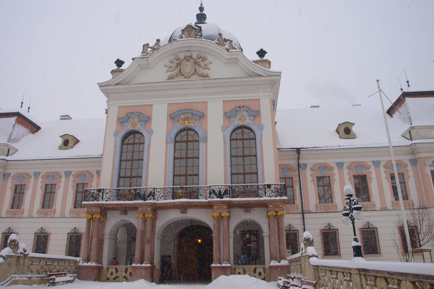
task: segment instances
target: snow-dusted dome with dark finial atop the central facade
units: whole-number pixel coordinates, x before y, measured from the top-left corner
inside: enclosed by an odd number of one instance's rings
[[[203,13],[204,11],[204,6],[201,3],[201,6],[199,6],[199,13],[196,14],[196,22],[194,24],[191,24],[193,27],[197,28],[200,32],[200,35],[196,36],[196,37],[185,37],[183,36],[183,29],[185,29],[187,26],[182,25],[179,26],[177,29],[175,29],[171,35],[167,36],[166,38],[164,38],[161,41],[161,45],[170,43],[170,42],[174,42],[178,39],[182,39],[182,38],[199,38],[199,39],[207,39],[210,41],[218,41],[217,39],[219,38],[219,33],[221,33],[221,37],[224,40],[232,40],[233,42],[233,46],[236,49],[240,49],[241,51],[243,50],[241,48],[240,42],[238,42],[238,39],[233,36],[232,33],[224,30],[224,29],[220,29],[219,26],[217,26],[214,23],[207,23],[205,22],[205,20],[207,19],[207,15],[205,13]]]

